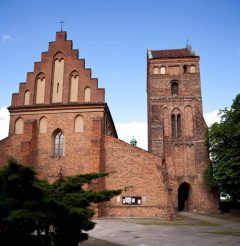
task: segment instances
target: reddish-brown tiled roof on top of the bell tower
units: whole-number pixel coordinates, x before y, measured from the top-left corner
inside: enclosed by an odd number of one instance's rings
[[[151,50],[148,52],[149,59],[154,58],[173,58],[173,57],[193,57],[197,56],[191,47],[174,50]]]

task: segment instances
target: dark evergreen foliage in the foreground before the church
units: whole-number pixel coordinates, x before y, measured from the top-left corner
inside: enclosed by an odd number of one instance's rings
[[[84,189],[106,174],[62,177],[53,184],[9,161],[0,170],[0,245],[77,245],[94,228],[92,205],[121,190]]]

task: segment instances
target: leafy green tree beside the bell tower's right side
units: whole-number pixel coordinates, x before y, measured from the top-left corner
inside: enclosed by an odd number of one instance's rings
[[[240,94],[231,107],[220,111],[220,123],[207,132],[211,164],[205,171],[209,187],[240,198]]]

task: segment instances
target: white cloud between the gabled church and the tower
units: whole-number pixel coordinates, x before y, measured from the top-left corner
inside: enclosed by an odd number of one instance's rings
[[[117,123],[116,129],[121,140],[130,143],[134,136],[137,146],[147,150],[147,122]]]

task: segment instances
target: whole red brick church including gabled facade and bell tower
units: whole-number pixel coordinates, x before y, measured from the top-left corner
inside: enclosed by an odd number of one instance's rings
[[[147,51],[148,148],[118,139],[105,90],[98,88],[66,32],[57,32],[26,82],[13,93],[0,165],[14,157],[50,182],[59,175],[109,172],[97,189],[123,189],[98,216],[172,217],[218,208],[203,182],[199,56],[190,46]]]

